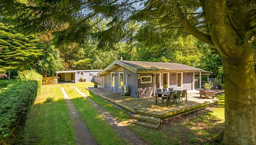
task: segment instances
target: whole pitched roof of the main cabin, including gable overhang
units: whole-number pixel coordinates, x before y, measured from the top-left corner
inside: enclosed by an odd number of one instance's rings
[[[104,68],[102,71],[98,73],[98,76],[106,74],[108,71],[112,70],[113,68],[117,66],[122,66],[124,68],[127,68],[131,70],[134,73],[144,73],[148,71],[154,71],[154,72],[196,72],[201,71],[203,72],[203,69],[187,66],[184,64],[179,63],[167,63],[167,62],[145,62],[145,61],[121,61],[121,60],[115,60],[113,63],[111,63],[109,66]],[[209,71],[207,71],[209,72]],[[212,73],[212,72],[210,72]]]

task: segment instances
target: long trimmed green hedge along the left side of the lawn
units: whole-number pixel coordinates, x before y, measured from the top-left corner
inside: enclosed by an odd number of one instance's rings
[[[16,143],[41,85],[40,74],[25,70],[0,93],[0,144]]]

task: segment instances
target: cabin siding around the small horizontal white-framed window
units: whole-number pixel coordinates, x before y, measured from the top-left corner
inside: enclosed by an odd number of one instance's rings
[[[153,73],[143,73],[143,74],[140,73],[140,77],[152,76],[152,83],[141,84],[141,79],[138,79],[138,98],[153,96],[153,89],[154,89],[153,75],[154,75]]]

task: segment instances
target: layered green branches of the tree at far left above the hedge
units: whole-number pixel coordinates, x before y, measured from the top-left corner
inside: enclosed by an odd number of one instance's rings
[[[0,67],[6,70],[35,68],[43,56],[43,43],[37,35],[23,35],[0,18]]]

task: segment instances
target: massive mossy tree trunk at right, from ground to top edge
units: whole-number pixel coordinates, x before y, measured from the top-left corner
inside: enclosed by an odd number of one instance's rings
[[[222,144],[256,144],[256,80],[251,43],[243,29],[246,15],[243,3],[229,7],[241,18],[232,26],[225,0],[204,1],[211,39],[223,62],[225,86],[225,129]],[[242,30],[240,30],[240,28]]]

